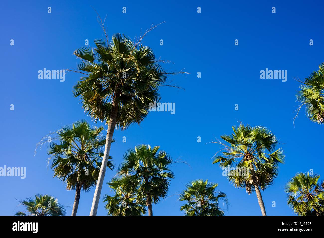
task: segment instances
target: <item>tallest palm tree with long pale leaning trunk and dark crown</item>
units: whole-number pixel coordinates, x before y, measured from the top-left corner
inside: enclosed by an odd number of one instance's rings
[[[115,127],[126,129],[132,123],[140,124],[149,104],[159,101],[158,86],[168,75],[153,51],[140,41],[134,43],[126,35],[114,34],[109,42],[105,35],[105,40],[94,40],[95,48],[82,47],[74,52],[82,60],[77,69],[85,76],[73,89],[92,119],[108,124],[102,168],[108,162]],[[105,171],[99,173],[90,212],[93,216],[97,214]]]

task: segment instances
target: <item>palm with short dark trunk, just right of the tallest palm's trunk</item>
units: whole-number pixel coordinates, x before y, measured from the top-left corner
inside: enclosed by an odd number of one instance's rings
[[[135,191],[136,201],[146,200],[149,216],[153,215],[152,202],[157,204],[160,198],[166,198],[170,179],[174,178],[168,168],[172,158],[158,149],[159,146],[138,145],[124,154],[124,162],[118,167],[118,174],[127,177],[127,189]]]

